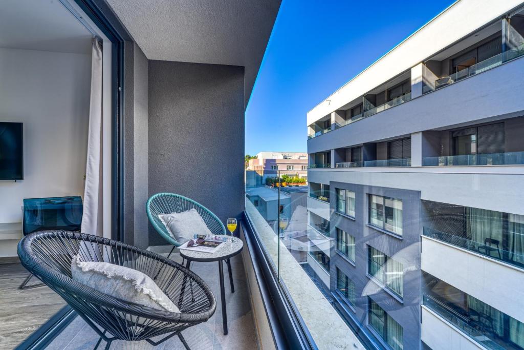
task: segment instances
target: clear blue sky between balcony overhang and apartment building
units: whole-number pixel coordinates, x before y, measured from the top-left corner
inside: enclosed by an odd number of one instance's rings
[[[306,113],[452,0],[283,0],[246,109],[246,154],[307,151]]]

